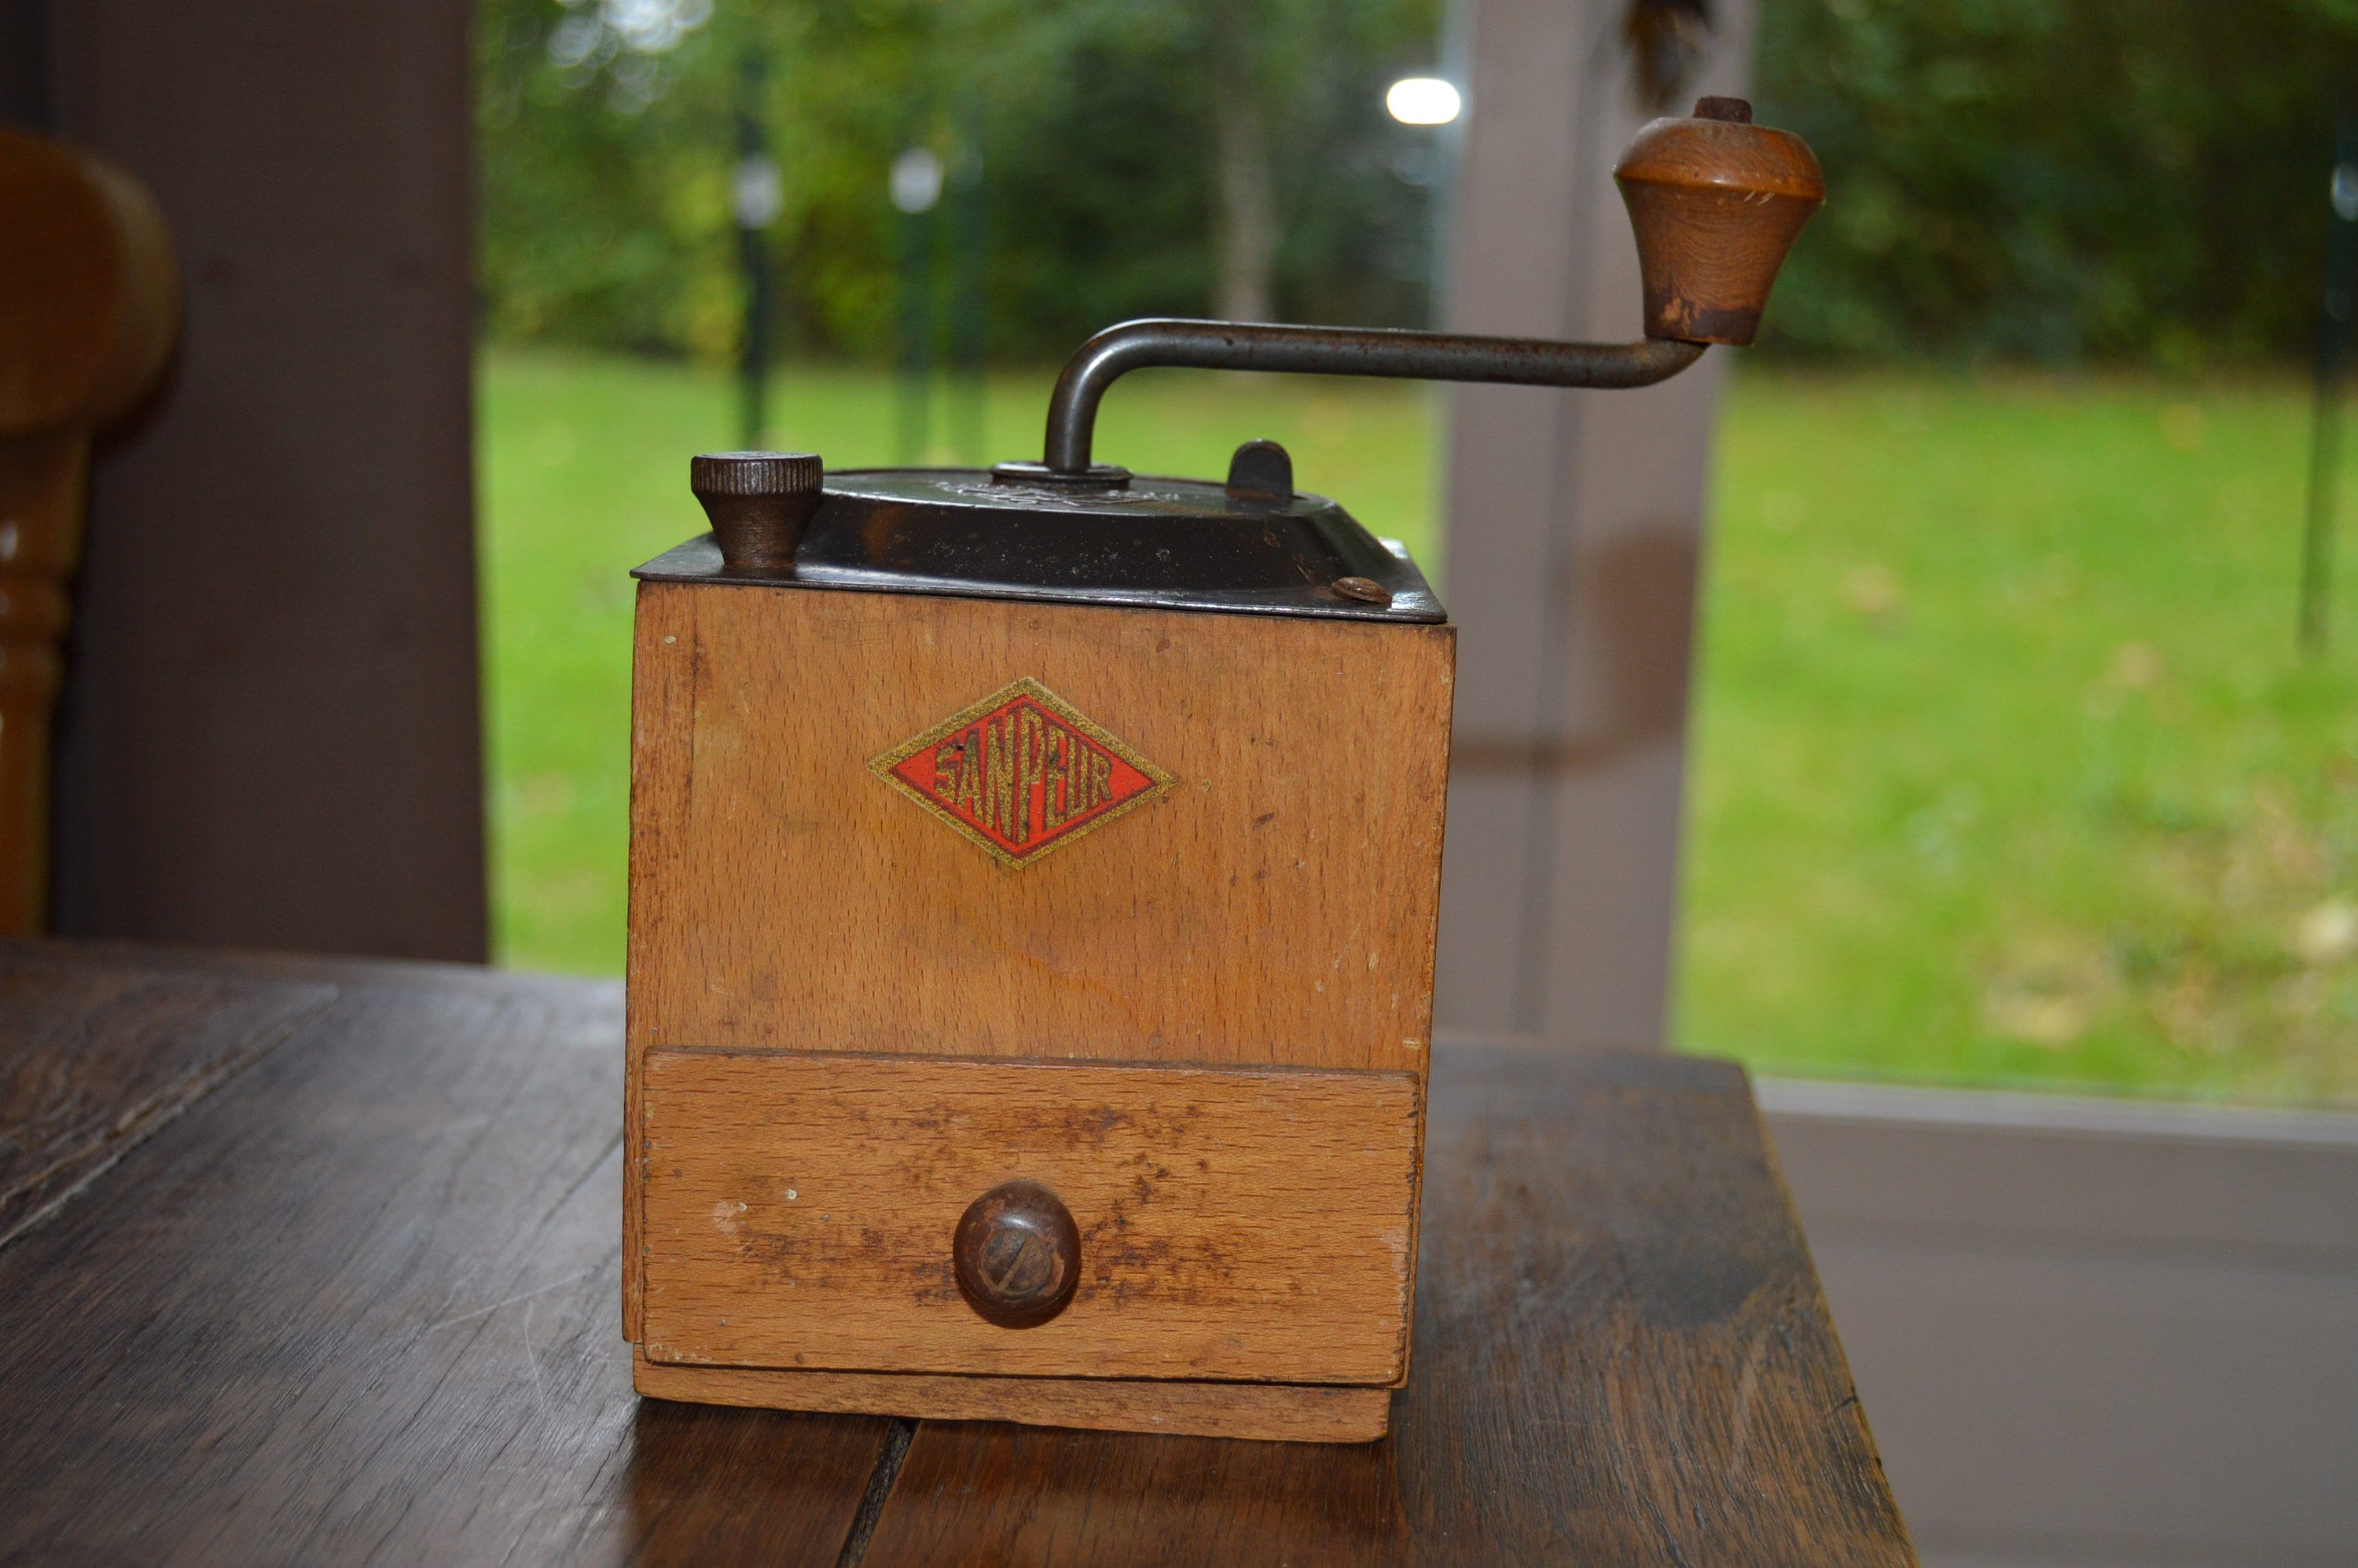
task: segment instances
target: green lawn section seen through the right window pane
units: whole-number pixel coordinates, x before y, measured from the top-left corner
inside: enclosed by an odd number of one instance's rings
[[[2358,625],[2294,655],[2306,443],[2290,382],[1740,380],[1681,1045],[2358,1099]]]

